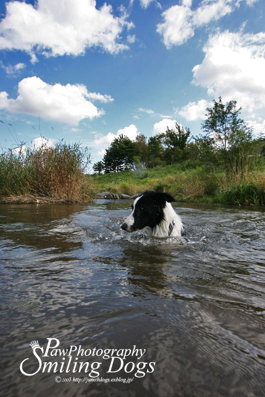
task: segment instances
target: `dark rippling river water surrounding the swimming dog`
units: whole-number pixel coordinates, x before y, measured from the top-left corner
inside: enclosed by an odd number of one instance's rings
[[[265,395],[265,209],[173,206],[0,205],[1,396]]]

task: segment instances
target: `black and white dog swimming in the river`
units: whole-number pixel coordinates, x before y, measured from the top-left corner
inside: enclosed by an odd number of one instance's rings
[[[149,236],[181,236],[183,224],[170,202],[175,199],[168,193],[146,191],[132,204],[132,213],[121,225],[126,232],[144,229]]]

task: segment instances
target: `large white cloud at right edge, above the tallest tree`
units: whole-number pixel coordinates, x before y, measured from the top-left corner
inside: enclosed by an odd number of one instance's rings
[[[237,100],[249,112],[265,109],[265,33],[218,33],[203,51],[202,63],[192,69],[196,85],[215,98]]]

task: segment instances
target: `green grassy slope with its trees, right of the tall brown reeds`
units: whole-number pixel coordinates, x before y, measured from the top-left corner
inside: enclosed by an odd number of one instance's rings
[[[174,129],[135,141],[115,138],[94,164],[97,191],[134,195],[148,189],[178,201],[265,204],[265,138],[254,137],[236,101],[222,98],[206,109],[203,135]]]

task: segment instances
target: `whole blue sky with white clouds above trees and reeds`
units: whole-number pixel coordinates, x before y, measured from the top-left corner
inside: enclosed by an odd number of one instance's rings
[[[95,162],[120,133],[177,121],[199,134],[220,95],[264,133],[264,11],[264,0],[1,0],[0,145],[64,138]]]

